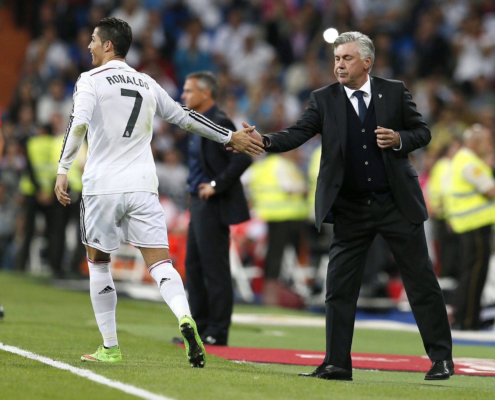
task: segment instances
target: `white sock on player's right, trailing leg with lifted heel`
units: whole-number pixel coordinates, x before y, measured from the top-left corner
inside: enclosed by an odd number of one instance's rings
[[[172,260],[162,260],[148,267],[148,272],[158,284],[158,289],[175,316],[180,320],[191,315],[181,276],[172,267]]]

